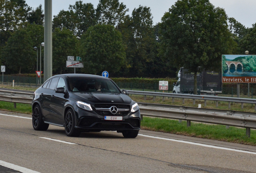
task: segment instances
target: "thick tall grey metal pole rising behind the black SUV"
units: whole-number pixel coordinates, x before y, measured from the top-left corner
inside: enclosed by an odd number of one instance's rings
[[[45,27],[44,27],[44,76],[43,80],[52,77],[52,0],[45,0]]]

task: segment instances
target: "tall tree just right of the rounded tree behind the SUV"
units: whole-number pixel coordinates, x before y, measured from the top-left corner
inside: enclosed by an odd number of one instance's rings
[[[157,41],[149,7],[139,6],[118,25],[126,44],[128,76],[152,76],[156,70]]]

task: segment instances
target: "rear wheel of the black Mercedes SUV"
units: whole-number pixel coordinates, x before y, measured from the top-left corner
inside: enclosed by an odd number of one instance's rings
[[[32,124],[36,131],[46,131],[49,124],[43,122],[43,116],[39,105],[35,105],[32,113]]]

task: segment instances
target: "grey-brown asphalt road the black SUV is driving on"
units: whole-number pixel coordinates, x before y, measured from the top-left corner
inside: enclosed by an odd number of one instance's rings
[[[11,115],[11,116],[8,116]],[[140,130],[67,137],[35,131],[31,115],[0,112],[0,173],[256,173],[256,147]]]

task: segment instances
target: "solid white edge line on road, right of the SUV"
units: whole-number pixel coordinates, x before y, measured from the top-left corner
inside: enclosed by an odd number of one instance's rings
[[[214,145],[206,145],[206,144],[201,144],[201,143],[194,143],[194,142],[188,142],[188,141],[182,141],[182,140],[176,140],[176,139],[168,139],[168,138],[163,138],[163,137],[154,137],[154,136],[142,135],[142,134],[138,134],[138,135],[143,136],[143,137],[150,137],[150,138],[155,138],[155,139],[163,139],[163,140],[167,140],[167,141],[187,143],[187,144],[192,144],[192,145],[199,145],[199,146],[202,146],[202,147],[209,147],[209,148],[215,148],[215,149],[223,149],[223,150],[236,151],[236,152],[249,153],[249,154],[256,155],[256,152],[251,152],[251,151],[244,151],[244,150],[231,149],[231,148],[225,148],[225,147],[217,147],[217,146],[214,146]]]

